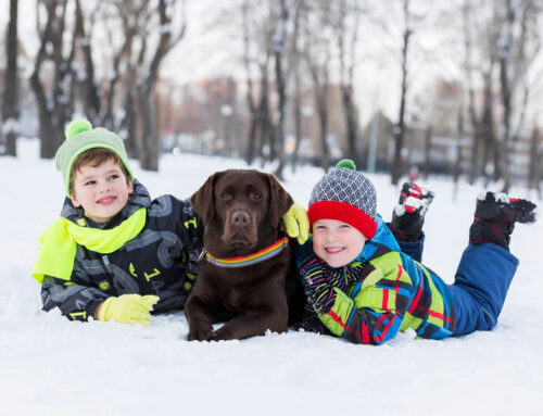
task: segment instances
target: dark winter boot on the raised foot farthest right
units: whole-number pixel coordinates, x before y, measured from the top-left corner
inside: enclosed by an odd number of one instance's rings
[[[535,204],[513,199],[505,193],[487,192],[477,200],[475,219],[469,228],[469,241],[490,241],[509,251],[509,240],[515,223],[535,222]]]

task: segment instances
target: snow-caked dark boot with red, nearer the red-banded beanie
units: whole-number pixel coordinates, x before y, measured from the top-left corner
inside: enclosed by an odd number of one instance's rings
[[[390,230],[397,240],[417,241],[422,234],[425,214],[432,203],[434,193],[415,182],[405,182],[400,200],[392,212]]]

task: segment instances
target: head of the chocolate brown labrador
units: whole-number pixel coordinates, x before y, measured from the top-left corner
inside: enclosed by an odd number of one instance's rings
[[[232,249],[256,247],[263,234],[276,231],[293,201],[274,175],[229,169],[210,176],[190,198],[206,226],[206,237]]]

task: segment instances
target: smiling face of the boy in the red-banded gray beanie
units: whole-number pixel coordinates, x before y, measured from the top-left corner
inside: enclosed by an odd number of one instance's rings
[[[366,240],[361,231],[340,220],[318,219],[313,224],[313,251],[331,267],[355,260]]]

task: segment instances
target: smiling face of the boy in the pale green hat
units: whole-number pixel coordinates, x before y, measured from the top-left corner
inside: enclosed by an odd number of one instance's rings
[[[97,223],[106,223],[118,214],[134,191],[132,182],[111,159],[99,166],[83,165],[73,175],[72,203],[83,206]]]

